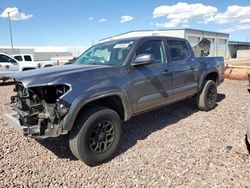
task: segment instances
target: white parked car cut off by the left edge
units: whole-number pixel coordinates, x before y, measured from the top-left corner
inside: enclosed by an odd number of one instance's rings
[[[31,69],[39,68],[37,63],[31,62],[29,64],[19,62],[13,57],[0,53],[0,80],[5,81],[7,77],[6,75],[13,72],[21,72]]]

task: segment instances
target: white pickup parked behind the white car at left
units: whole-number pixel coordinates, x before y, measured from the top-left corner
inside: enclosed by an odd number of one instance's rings
[[[36,63],[41,68],[58,65],[57,61],[34,61],[34,58],[31,54],[14,54],[12,57],[14,57],[19,62]]]

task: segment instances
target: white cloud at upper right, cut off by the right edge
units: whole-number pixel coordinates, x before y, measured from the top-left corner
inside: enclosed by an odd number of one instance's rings
[[[250,23],[250,6],[228,6],[225,12],[217,13],[205,20],[205,23]]]

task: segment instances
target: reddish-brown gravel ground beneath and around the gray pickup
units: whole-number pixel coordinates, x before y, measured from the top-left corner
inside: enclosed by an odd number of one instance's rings
[[[116,157],[92,168],[65,139],[37,142],[5,122],[12,87],[0,87],[0,187],[250,186],[247,82],[226,80],[210,112],[186,100],[133,118]]]

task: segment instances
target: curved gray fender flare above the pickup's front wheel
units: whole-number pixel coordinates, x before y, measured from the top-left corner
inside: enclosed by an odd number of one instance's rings
[[[74,125],[75,119],[79,113],[79,111],[88,103],[93,102],[95,100],[108,97],[108,96],[118,96],[122,101],[122,105],[124,108],[124,121],[127,121],[132,116],[132,108],[128,101],[127,96],[124,92],[119,90],[110,90],[105,92],[100,92],[95,95],[87,95],[86,93],[78,96],[69,109],[69,113],[67,115],[67,119],[64,124],[64,129],[70,131]]]

